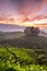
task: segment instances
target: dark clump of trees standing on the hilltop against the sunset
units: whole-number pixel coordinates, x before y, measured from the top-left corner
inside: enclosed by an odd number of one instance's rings
[[[37,36],[39,34],[39,28],[38,27],[25,27],[24,33],[27,35],[33,35]]]

